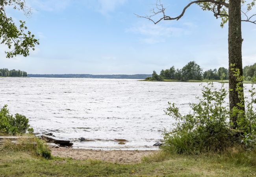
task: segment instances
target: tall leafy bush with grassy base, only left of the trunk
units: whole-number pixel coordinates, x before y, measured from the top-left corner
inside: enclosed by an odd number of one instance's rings
[[[224,98],[227,91],[217,90],[213,83],[203,86],[199,103],[190,104],[193,112],[182,116],[174,103],[170,103],[166,114],[178,123],[171,132],[164,133],[163,149],[176,153],[202,153],[223,151],[234,144],[233,133],[226,119],[229,116]]]

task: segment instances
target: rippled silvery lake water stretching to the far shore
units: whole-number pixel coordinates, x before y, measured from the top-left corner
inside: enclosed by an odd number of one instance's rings
[[[156,149],[152,145],[175,123],[164,112],[168,101],[186,113],[201,89],[200,83],[7,77],[0,78],[0,106],[27,116],[35,132],[68,138],[75,148]]]

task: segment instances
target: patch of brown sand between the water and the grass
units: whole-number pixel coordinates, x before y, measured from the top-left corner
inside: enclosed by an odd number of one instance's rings
[[[76,160],[104,160],[114,163],[138,163],[141,162],[141,157],[147,156],[156,151],[101,151],[101,150],[89,150],[89,149],[72,149],[72,148],[55,148],[51,149],[53,156],[58,157],[70,157]]]

